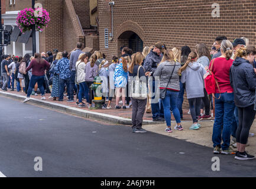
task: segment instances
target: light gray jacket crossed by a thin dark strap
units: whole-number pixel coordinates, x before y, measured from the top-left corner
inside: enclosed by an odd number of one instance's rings
[[[174,63],[175,63],[175,69],[174,69]],[[176,90],[176,91],[180,90],[180,76],[178,74],[180,67],[181,67],[180,63],[174,62],[174,61],[164,61],[163,63],[160,63],[158,65],[157,69],[155,70],[154,77],[157,77],[157,76],[160,77],[160,88],[167,88],[167,89]],[[173,76],[171,76],[172,72],[173,72]],[[171,80],[170,80],[170,77],[171,77]]]

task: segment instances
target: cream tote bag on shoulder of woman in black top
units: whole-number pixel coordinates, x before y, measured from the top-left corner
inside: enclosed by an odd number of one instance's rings
[[[137,73],[136,79],[131,81],[131,89],[132,89],[131,97],[137,100],[147,99],[147,82],[140,80],[140,77],[139,77],[139,71],[141,67],[142,66],[138,67],[138,73]]]

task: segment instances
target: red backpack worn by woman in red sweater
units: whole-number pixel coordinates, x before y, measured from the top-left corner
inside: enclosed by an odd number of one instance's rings
[[[216,86],[219,89],[219,83],[216,79],[216,77],[214,76],[214,74],[212,73],[212,67],[213,67],[213,63],[214,63],[215,58],[212,60],[212,64],[210,65],[210,69],[207,70],[207,73],[203,76],[203,79],[205,80],[205,89],[206,92],[208,94],[212,94],[212,96],[217,99],[215,97],[215,91],[216,91]],[[219,89],[219,91],[221,91]],[[221,98],[221,95],[219,95],[219,98]]]

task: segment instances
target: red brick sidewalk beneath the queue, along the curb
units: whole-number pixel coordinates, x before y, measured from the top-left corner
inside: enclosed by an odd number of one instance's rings
[[[19,95],[24,95],[24,96],[26,95],[25,93],[17,92],[16,90],[12,92],[12,91],[10,91],[10,89],[8,89],[8,93],[19,94]],[[30,97],[35,98],[35,99],[40,99],[41,95],[40,94],[38,94],[38,96],[31,95]],[[46,101],[59,103],[61,105],[66,105],[66,106],[70,106],[70,107],[77,107],[75,102],[67,102],[66,97],[64,97],[63,102],[59,102],[58,100],[55,101],[53,99],[49,99],[48,97],[50,97],[50,93],[46,93]],[[112,109],[97,109],[96,110],[96,109],[89,109],[88,107],[82,107],[80,109],[85,109],[85,110],[89,110],[89,111],[92,111],[92,112],[105,113],[105,114],[108,114],[108,115],[120,116],[122,118],[131,118],[132,117],[132,108],[129,108],[129,109],[126,109],[126,110],[124,110],[124,109],[119,109],[119,110],[114,109],[115,99],[112,100],[111,107],[112,107]],[[183,114],[184,114],[183,118],[184,118],[184,120],[192,120],[191,116],[189,114],[187,114],[187,112],[189,112],[189,110],[183,109]],[[144,120],[152,120],[152,114],[151,113],[145,113],[143,119]],[[174,119],[173,116],[172,116],[172,119]]]

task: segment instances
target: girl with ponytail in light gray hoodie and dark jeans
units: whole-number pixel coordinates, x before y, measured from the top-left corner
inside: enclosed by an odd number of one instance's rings
[[[182,83],[186,83],[187,99],[189,100],[190,114],[193,119],[193,124],[189,128],[190,130],[197,130],[201,126],[198,123],[198,118],[200,116],[202,97],[205,95],[203,93],[203,75],[206,73],[206,70],[196,60],[197,54],[195,51],[192,51],[189,53],[184,66],[179,70],[179,74],[182,74]]]

